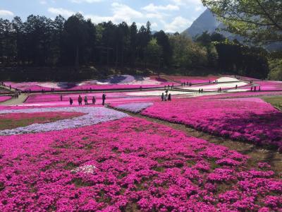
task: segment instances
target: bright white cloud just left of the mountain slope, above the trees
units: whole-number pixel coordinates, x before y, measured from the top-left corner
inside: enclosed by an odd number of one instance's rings
[[[188,28],[192,24],[192,21],[181,16],[177,16],[171,23],[163,22],[163,24],[164,31],[166,33],[175,33],[176,31],[182,32],[183,30]]]

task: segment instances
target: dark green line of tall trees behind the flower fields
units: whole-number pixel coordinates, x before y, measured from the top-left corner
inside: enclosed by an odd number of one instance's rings
[[[142,67],[169,73],[234,73],[265,78],[267,52],[204,32],[191,40],[179,33],[152,33],[149,21],[94,24],[77,13],[68,19],[0,18],[1,67]],[[202,71],[204,68],[204,72]],[[195,70],[192,71],[191,70]],[[201,71],[199,71],[201,70]],[[59,74],[59,73],[58,73]]]

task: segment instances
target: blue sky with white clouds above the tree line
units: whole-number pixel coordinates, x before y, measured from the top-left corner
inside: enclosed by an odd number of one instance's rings
[[[80,12],[93,23],[111,20],[137,26],[152,23],[152,30],[167,33],[182,32],[204,11],[201,0],[0,0],[0,18],[20,16],[25,20],[30,14],[65,18]]]

